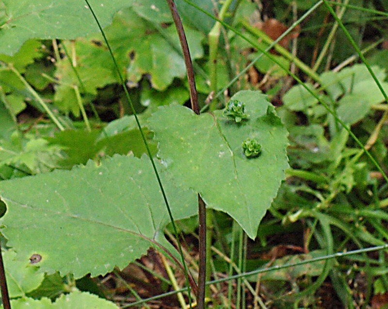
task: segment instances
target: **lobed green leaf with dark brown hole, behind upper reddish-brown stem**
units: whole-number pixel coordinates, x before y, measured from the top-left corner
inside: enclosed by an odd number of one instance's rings
[[[152,24],[132,10],[122,10],[105,31],[119,65],[128,68],[127,79],[130,82],[137,83],[144,74],[150,74],[152,87],[164,90],[175,77],[186,76],[186,68],[180,52],[168,41],[176,42],[175,45],[178,45],[174,25],[165,29],[168,35],[166,40]],[[201,57],[202,34],[190,28],[186,28],[185,33],[192,57],[194,59]]]

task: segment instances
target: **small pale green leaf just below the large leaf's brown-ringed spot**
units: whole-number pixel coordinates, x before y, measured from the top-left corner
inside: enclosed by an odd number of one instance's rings
[[[8,293],[11,298],[25,296],[36,289],[43,281],[44,274],[38,273],[36,266],[29,260],[16,260],[16,252],[7,250],[2,252],[6,267]]]

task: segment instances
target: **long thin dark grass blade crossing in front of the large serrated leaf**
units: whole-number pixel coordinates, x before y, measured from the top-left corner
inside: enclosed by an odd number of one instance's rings
[[[118,65],[117,65],[117,62],[116,62],[116,59],[114,58],[114,55],[113,55],[113,51],[112,51],[112,49],[111,49],[111,46],[110,46],[110,44],[109,44],[109,42],[108,42],[108,39],[107,39],[107,37],[106,37],[106,35],[105,35],[105,33],[104,33],[102,27],[101,27],[101,24],[100,24],[99,21],[98,21],[98,18],[97,18],[97,16],[96,16],[96,14],[95,14],[93,8],[90,6],[88,0],[84,0],[84,1],[85,1],[85,3],[87,4],[87,7],[90,9],[90,12],[92,13],[93,18],[95,19],[95,21],[96,21],[96,23],[97,23],[98,29],[100,30],[100,32],[101,32],[101,34],[102,34],[102,37],[104,38],[105,44],[106,44],[107,47],[108,47],[109,53],[111,54],[111,57],[112,57],[112,60],[113,60],[113,64],[114,64],[114,67],[116,68],[116,72],[117,72],[117,74],[118,74],[118,76],[119,76],[121,85],[123,86],[123,89],[124,89],[124,92],[125,92],[125,96],[126,96],[127,101],[128,101],[128,103],[129,103],[130,109],[131,109],[131,111],[132,111],[132,113],[133,113],[133,115],[134,115],[134,117],[135,117],[137,127],[139,128],[140,134],[141,134],[141,136],[142,136],[143,143],[144,143],[144,145],[146,146],[147,154],[148,154],[148,157],[149,157],[150,162],[151,162],[151,164],[152,164],[152,168],[153,168],[153,170],[154,170],[156,179],[158,180],[158,184],[159,184],[159,187],[160,187],[161,192],[162,192],[164,204],[166,205],[166,209],[167,209],[167,212],[168,212],[170,221],[171,221],[171,225],[172,225],[172,227],[173,227],[173,229],[174,229],[174,233],[175,233],[175,235],[176,235],[176,237],[177,237],[177,239],[178,239],[178,231],[177,231],[177,227],[176,227],[176,225],[175,225],[175,223],[174,223],[174,218],[173,218],[173,215],[172,215],[172,212],[171,212],[170,205],[169,205],[168,200],[167,200],[167,195],[166,195],[166,193],[165,193],[165,191],[164,191],[164,188],[163,188],[163,185],[162,185],[162,180],[160,179],[158,170],[156,169],[156,165],[155,165],[154,159],[152,158],[151,150],[149,149],[149,146],[148,146],[148,143],[147,143],[147,140],[146,140],[146,136],[145,136],[145,134],[144,134],[144,132],[143,132],[143,130],[142,130],[142,127],[141,127],[141,125],[140,125],[139,118],[138,118],[138,116],[137,116],[137,114],[136,114],[136,110],[135,110],[135,108],[134,108],[134,106],[133,106],[133,102],[132,102],[132,100],[131,100],[131,98],[130,98],[130,96],[129,96],[129,92],[128,92],[127,86],[126,86],[126,84],[125,84],[124,78],[123,78],[123,76],[121,75],[120,69],[119,69],[119,67],[118,67]],[[181,245],[180,245],[179,241],[178,241],[178,248],[179,248],[179,254],[180,254],[180,258],[181,258],[181,260],[182,260],[183,268],[184,268],[184,271],[185,271],[186,283],[187,283],[187,285],[188,285],[188,289],[189,289],[189,293],[188,293],[188,294],[189,294],[189,299],[190,299],[190,288],[193,289],[193,290],[196,292],[197,287],[196,287],[196,284],[195,284],[195,282],[194,282],[194,279],[193,279],[193,278],[189,278],[189,272],[188,272],[188,270],[187,270],[187,265],[186,265],[185,259],[184,259],[184,257],[183,257],[182,248],[181,248]],[[190,302],[190,303],[191,303],[191,302]]]

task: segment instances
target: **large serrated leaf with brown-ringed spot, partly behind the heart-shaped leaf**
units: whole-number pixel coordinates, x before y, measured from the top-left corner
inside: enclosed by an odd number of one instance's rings
[[[178,190],[166,173],[162,182],[174,218],[194,215],[194,193]],[[7,205],[0,220],[7,244],[18,260],[39,255],[36,265],[44,272],[97,276],[125,267],[152,242],[166,242],[162,228],[169,217],[145,157],[117,155],[100,165],[1,181],[0,196]]]

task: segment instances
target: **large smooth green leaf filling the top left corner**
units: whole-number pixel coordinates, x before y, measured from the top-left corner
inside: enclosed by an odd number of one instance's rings
[[[28,39],[75,39],[97,33],[90,9],[80,0],[3,0],[5,15],[1,19],[0,53],[13,55]],[[113,14],[128,7],[128,0],[102,2],[89,0],[102,27]]]

